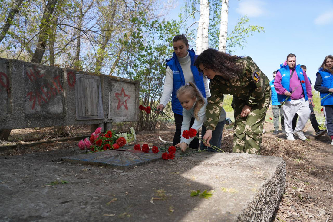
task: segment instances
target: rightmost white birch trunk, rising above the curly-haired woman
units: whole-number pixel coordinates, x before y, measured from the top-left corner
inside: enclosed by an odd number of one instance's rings
[[[222,0],[221,7],[221,26],[218,41],[218,51],[225,53],[228,34],[228,5],[229,0]]]

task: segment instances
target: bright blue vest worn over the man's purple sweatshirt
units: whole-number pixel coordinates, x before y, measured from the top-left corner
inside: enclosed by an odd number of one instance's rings
[[[281,77],[282,77],[281,78],[281,85],[283,86],[283,88],[290,91],[290,69],[289,69],[289,66],[288,65],[283,66],[281,64],[280,67],[281,68],[278,71],[281,73]],[[297,76],[300,80],[300,84],[301,84],[302,89],[303,89],[305,100],[308,100],[308,95],[307,95],[307,92],[306,92],[305,82],[301,83],[302,80],[305,81],[304,80],[304,75],[303,75],[303,70],[301,69],[301,65],[296,65],[295,72],[296,72],[296,74],[297,74]],[[294,74],[295,74],[295,72],[294,72]],[[286,95],[277,94],[277,100],[279,102],[283,102],[286,98],[287,98]],[[288,98],[287,101],[290,101],[290,97]]]

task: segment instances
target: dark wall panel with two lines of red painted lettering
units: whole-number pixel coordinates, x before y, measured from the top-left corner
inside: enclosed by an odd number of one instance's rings
[[[25,115],[64,113],[61,69],[27,63],[24,68]]]

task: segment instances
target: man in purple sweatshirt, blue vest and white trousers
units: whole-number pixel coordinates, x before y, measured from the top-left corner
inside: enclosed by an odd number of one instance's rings
[[[306,72],[300,68],[300,65],[296,65],[296,55],[287,55],[284,65],[281,65],[276,73],[274,88],[279,102],[283,102],[290,96],[290,99],[288,98],[282,106],[287,140],[295,140],[293,135],[301,140],[306,140],[302,130],[310,118],[309,103],[312,102],[312,92]],[[295,113],[298,114],[299,120],[293,131],[292,120]]]

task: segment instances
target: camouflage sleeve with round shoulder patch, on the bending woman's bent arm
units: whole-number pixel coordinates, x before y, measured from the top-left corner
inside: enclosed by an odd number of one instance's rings
[[[252,59],[248,59],[245,63],[245,73],[250,83],[254,86],[252,91],[250,91],[250,97],[246,105],[259,105],[259,103],[261,103],[260,100],[265,96],[266,76],[261,72]]]

